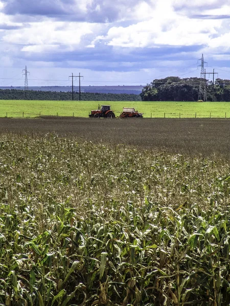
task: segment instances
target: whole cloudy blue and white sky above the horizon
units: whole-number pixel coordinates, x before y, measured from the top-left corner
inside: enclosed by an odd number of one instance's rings
[[[200,77],[202,54],[230,79],[230,0],[0,0],[0,86]]]

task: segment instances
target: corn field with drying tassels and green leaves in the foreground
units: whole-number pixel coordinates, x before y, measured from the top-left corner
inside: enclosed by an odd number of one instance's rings
[[[0,135],[0,305],[230,304],[226,159]]]

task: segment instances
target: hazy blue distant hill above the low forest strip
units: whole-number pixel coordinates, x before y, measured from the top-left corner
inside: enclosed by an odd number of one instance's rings
[[[127,94],[140,94],[144,86],[81,86],[81,92],[91,93],[127,93]],[[0,86],[0,89],[19,89],[24,90],[24,86]],[[29,90],[38,91],[56,91],[68,92],[72,91],[72,86],[29,86]],[[79,92],[79,87],[74,86],[74,91]]]

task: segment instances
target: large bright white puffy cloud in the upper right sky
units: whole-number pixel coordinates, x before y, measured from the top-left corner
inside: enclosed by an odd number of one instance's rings
[[[189,46],[209,44],[212,35],[218,33],[221,20],[189,19],[169,14],[163,19],[157,16],[128,27],[112,27],[104,37],[106,44],[120,47],[153,47],[157,45]]]

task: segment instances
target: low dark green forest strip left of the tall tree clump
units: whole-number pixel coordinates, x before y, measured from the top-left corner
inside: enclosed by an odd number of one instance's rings
[[[72,92],[0,89],[2,100],[72,100]],[[79,100],[79,93],[74,92],[74,100]],[[83,101],[140,101],[139,94],[81,92]]]

